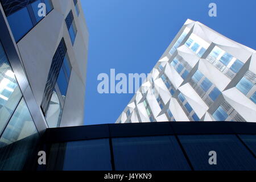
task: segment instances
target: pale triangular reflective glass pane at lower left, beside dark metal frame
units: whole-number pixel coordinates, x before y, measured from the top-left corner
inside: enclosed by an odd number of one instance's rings
[[[35,124],[31,118],[30,111],[22,98],[14,111],[6,129],[0,138],[0,147],[11,144],[30,135],[36,134]]]

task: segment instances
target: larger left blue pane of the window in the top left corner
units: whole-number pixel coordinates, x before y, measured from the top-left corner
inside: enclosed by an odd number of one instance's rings
[[[7,16],[7,20],[16,42],[33,27],[27,7]]]

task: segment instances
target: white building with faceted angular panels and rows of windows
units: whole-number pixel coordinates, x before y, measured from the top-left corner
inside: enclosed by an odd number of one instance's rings
[[[256,51],[188,19],[117,123],[256,122]]]

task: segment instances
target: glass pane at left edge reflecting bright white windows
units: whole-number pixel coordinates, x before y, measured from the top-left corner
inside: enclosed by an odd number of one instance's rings
[[[21,97],[22,93],[0,43],[0,135]]]

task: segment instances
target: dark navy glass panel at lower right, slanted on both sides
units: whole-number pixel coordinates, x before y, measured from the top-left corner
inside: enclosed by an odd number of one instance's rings
[[[201,170],[253,170],[256,159],[236,135],[179,135],[193,168]],[[217,154],[217,165],[209,165],[209,152]]]

